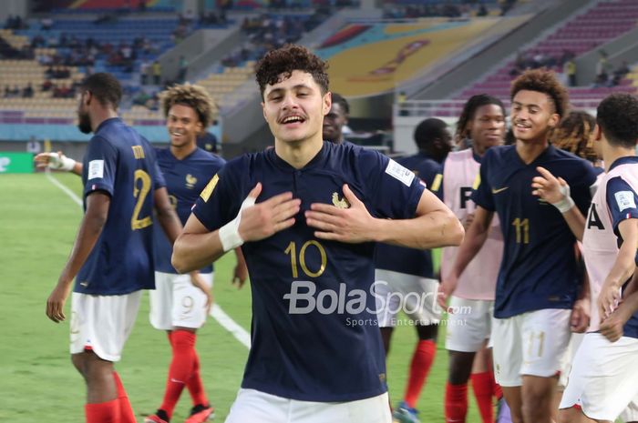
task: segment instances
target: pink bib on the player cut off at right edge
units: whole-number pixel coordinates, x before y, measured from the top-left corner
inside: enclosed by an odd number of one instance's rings
[[[638,166],[614,166],[609,173],[598,176],[598,188],[592,198],[592,206],[587,213],[585,232],[582,236],[582,255],[585,258],[592,297],[588,332],[595,332],[600,328],[598,296],[618,256],[618,237],[613,233],[612,211],[607,203],[607,183],[619,176],[633,188],[633,191],[638,192]]]

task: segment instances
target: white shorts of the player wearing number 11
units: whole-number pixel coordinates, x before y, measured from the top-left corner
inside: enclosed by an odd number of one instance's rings
[[[521,376],[550,378],[561,371],[570,342],[571,309],[546,308],[494,318],[491,342],[494,376],[502,387],[520,387]]]

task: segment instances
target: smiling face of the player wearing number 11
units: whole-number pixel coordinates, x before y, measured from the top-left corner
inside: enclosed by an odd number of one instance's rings
[[[511,101],[514,137],[523,143],[544,141],[560,120],[551,98],[544,93],[520,90]]]

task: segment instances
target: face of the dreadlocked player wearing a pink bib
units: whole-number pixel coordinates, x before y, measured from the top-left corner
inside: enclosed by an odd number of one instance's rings
[[[505,116],[497,105],[480,106],[468,122],[469,137],[476,153],[482,156],[491,146],[503,144],[505,136]]]

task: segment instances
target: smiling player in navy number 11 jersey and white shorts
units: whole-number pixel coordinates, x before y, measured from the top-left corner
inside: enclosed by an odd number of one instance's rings
[[[596,176],[589,163],[548,142],[568,105],[566,89],[551,72],[519,76],[511,102],[516,144],[491,147],[481,160],[480,183],[471,197],[474,220],[447,283],[457,285],[485,243],[496,211],[504,249],[491,332],[495,377],[514,423],[549,423],[570,324],[581,326],[575,322],[587,318],[588,298],[577,299],[574,243]],[[571,186],[569,199],[551,204],[532,194],[532,178],[545,170]]]

